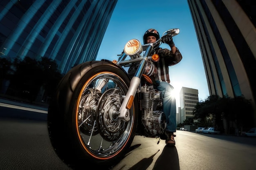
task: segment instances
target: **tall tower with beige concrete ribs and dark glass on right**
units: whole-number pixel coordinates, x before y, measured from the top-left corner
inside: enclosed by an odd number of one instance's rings
[[[256,1],[188,0],[210,95],[256,97]]]

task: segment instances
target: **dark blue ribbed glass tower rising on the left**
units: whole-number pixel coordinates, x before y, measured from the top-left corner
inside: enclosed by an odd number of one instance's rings
[[[0,94],[17,95],[8,94],[12,83],[6,73],[13,76],[20,68],[17,63],[24,60],[42,64],[47,59],[56,64],[60,74],[95,60],[116,3],[117,0],[1,0]],[[4,66],[9,62],[12,70],[6,71]],[[34,95],[32,100],[40,101],[41,97]]]

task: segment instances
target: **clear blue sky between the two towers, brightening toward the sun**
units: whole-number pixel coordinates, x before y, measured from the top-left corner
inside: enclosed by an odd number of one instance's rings
[[[209,90],[202,55],[187,0],[118,0],[96,60],[117,60],[128,40],[135,38],[143,44],[143,35],[150,28],[160,36],[168,29],[180,29],[173,42],[183,58],[169,67],[177,107],[182,87],[197,89],[199,101],[207,99]],[[166,44],[161,47],[170,49]]]

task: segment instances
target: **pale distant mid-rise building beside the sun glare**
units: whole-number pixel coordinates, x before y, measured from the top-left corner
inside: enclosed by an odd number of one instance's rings
[[[182,87],[180,90],[180,122],[185,119],[193,118],[193,109],[198,103],[198,90],[193,88]]]

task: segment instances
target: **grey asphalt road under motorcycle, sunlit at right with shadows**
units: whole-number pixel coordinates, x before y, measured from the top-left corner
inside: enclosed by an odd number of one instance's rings
[[[256,170],[256,138],[176,135],[174,148],[135,136],[134,149],[111,170]],[[51,146],[46,113],[0,106],[0,170],[71,170]]]

